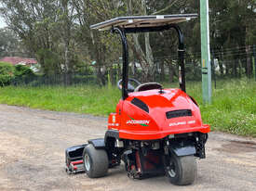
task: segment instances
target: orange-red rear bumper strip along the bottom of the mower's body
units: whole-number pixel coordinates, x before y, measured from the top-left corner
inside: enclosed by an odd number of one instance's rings
[[[130,140],[155,140],[162,139],[169,134],[185,134],[200,132],[202,134],[208,134],[210,131],[210,126],[208,124],[203,124],[201,127],[182,127],[170,129],[167,131],[125,131],[119,130],[119,138],[130,139]]]

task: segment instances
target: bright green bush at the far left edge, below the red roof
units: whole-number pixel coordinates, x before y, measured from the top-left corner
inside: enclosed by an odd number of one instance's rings
[[[15,68],[7,62],[0,62],[0,86],[9,85],[14,78]]]

